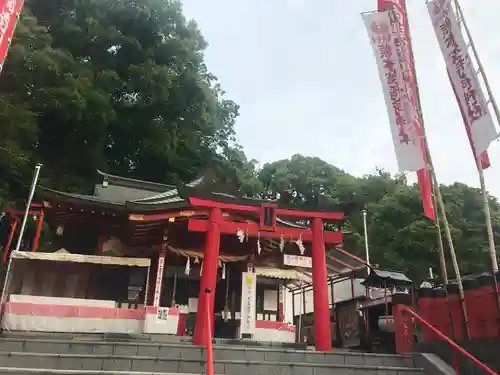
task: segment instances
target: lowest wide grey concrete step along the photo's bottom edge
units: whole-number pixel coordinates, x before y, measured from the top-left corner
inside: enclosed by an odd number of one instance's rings
[[[7,368],[32,368],[78,371],[192,373],[205,372],[205,359],[150,357],[139,355],[0,353],[0,364]],[[365,364],[327,364],[300,361],[249,361],[215,359],[214,370],[226,375],[422,375],[422,369]],[[1,374],[1,372],[0,372]]]

